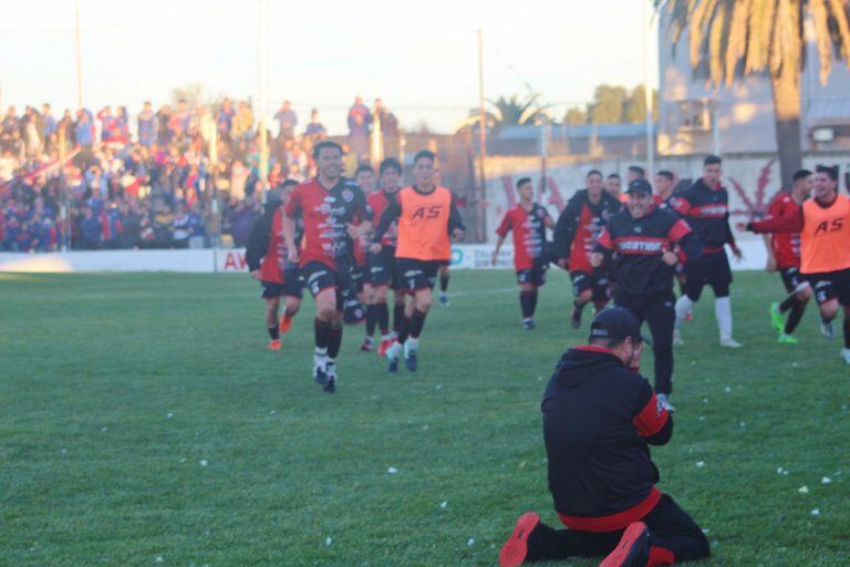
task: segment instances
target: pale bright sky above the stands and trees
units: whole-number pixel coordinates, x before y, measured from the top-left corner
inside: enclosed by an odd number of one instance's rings
[[[303,125],[315,106],[332,134],[356,94],[405,127],[454,131],[478,106],[478,29],[487,99],[540,93],[560,120],[598,84],[643,82],[643,0],[267,1],[269,114],[288,99]],[[259,2],[79,0],[83,105],[135,114],[191,83],[258,100]],[[0,104],[74,109],[74,2],[0,7]]]

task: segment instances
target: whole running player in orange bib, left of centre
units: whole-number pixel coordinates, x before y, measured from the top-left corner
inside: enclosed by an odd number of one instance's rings
[[[450,237],[464,236],[464,224],[452,202],[452,192],[434,184],[435,161],[436,155],[427,150],[414,156],[416,183],[400,190],[395,203],[387,205],[372,240],[372,252],[380,252],[381,238],[392,223],[398,223],[395,274],[402,290],[413,297],[405,307],[406,324],[400,330],[397,342],[386,352],[390,372],[398,370],[402,349],[407,369],[416,371],[419,336],[434,301],[432,289],[439,264],[447,262],[452,256]]]

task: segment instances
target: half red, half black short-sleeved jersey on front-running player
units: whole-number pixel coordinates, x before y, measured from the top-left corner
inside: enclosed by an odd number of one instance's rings
[[[340,178],[331,189],[325,189],[318,179],[298,185],[283,212],[290,218],[300,215],[304,223],[301,266],[320,261],[335,268],[339,260],[350,262],[353,247],[348,225],[372,218],[363,190],[345,178]]]

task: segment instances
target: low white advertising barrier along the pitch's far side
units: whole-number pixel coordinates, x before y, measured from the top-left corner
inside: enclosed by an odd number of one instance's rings
[[[760,241],[738,243],[744,260],[730,259],[734,270],[765,268],[767,254]],[[452,247],[455,269],[493,269],[493,246]],[[512,269],[514,250],[499,251],[495,268]],[[183,271],[195,274],[247,272],[245,249],[219,250],[100,250],[46,254],[0,252],[2,272]]]

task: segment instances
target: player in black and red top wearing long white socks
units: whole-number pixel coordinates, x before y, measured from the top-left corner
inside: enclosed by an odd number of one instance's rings
[[[675,203],[671,204],[687,220],[703,244],[703,255],[685,267],[685,295],[676,301],[674,341],[682,343],[682,321],[699,300],[703,287],[708,285],[714,290],[714,313],[721,346],[740,348],[740,343],[732,337],[732,268],[724,246],[729,245],[735,258],[740,259],[743,256],[729,227],[729,195],[721,185],[721,158],[716,155],[707,156],[703,161],[702,178],[676,195]]]

